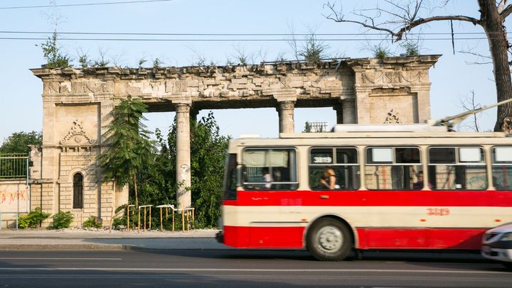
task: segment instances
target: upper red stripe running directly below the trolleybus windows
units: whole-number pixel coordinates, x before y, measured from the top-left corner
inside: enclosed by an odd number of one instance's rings
[[[512,207],[511,191],[238,191],[230,206]]]

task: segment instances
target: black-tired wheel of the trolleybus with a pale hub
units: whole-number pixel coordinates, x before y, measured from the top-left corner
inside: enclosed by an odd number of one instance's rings
[[[306,248],[321,261],[345,259],[353,246],[352,234],[334,218],[320,218],[311,225],[306,236]]]

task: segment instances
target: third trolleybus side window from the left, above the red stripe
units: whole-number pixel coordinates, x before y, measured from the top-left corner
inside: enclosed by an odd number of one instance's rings
[[[365,182],[369,190],[423,188],[420,148],[366,148]]]

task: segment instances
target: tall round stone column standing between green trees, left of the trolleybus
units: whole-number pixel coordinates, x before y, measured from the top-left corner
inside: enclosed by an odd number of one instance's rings
[[[176,182],[178,191],[176,201],[178,208],[192,204],[191,159],[190,159],[190,104],[176,104]]]

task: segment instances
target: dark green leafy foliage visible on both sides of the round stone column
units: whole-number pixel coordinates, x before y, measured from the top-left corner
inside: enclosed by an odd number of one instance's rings
[[[229,137],[220,135],[213,113],[199,121],[191,118],[191,193],[196,227],[216,226],[220,216],[225,151]],[[177,204],[176,119],[167,138],[156,131],[160,150],[155,161],[139,174],[144,204]]]

